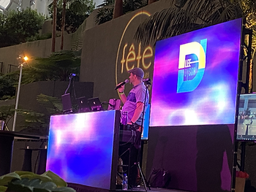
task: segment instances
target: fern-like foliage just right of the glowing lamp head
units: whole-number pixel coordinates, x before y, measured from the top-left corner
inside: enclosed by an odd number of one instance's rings
[[[35,58],[23,66],[22,82],[30,83],[47,80],[69,80],[69,74],[79,74],[80,52],[62,50],[48,58]]]

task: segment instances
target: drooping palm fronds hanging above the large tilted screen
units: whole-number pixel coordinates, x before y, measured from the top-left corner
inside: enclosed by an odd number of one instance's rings
[[[256,31],[255,13],[255,0],[171,0],[170,8],[156,12],[140,24],[135,39],[143,45],[154,44],[157,40],[242,17],[246,27]]]

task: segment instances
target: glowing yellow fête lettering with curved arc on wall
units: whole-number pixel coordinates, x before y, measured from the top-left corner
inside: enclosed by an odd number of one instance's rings
[[[129,70],[140,67],[144,71],[144,78],[151,77],[154,64],[154,50],[151,45],[142,46],[133,39],[141,20],[150,16],[142,10],[135,13],[129,20],[121,35],[116,54],[116,84],[129,77]]]

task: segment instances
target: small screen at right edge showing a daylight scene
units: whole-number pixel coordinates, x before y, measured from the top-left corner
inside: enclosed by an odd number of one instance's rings
[[[256,140],[256,94],[243,94],[239,101],[237,138]]]

